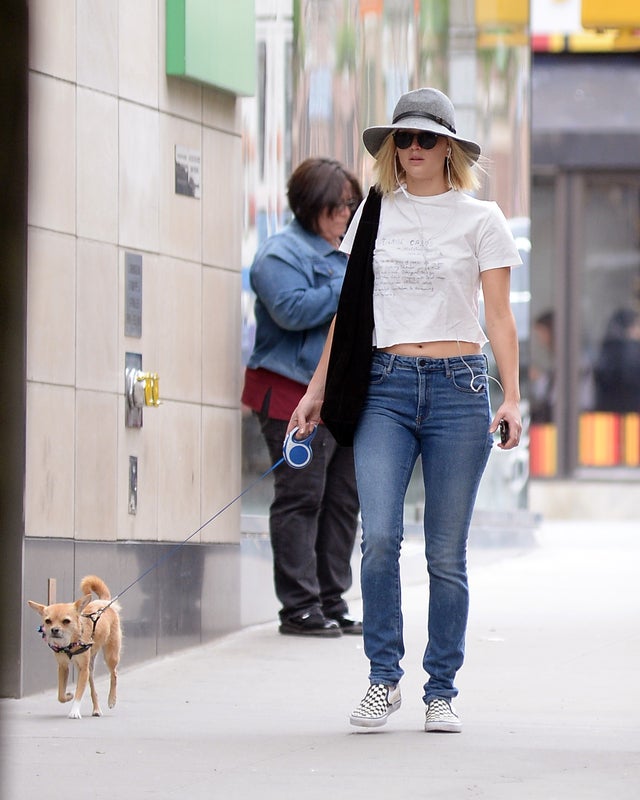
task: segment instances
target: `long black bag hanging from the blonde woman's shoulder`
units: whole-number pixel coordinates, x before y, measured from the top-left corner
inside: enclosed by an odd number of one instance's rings
[[[353,242],[338,303],[322,421],[343,446],[353,435],[367,396],[373,337],[373,250],[382,195],[371,188]]]

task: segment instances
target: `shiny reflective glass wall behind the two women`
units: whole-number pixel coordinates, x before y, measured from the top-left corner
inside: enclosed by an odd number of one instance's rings
[[[436,86],[456,106],[457,124],[487,156],[478,195],[496,200],[529,244],[529,47],[526,31],[478,30],[474,4],[448,0],[256,0],[261,81],[244,100],[245,227],[243,275],[257,246],[288,219],[286,180],[308,156],[330,156],[349,167],[364,189],[373,159],[361,131],[386,122],[398,97]],[[514,228],[515,230],[515,228]],[[528,352],[528,269],[512,301]],[[253,343],[253,298],[243,282],[243,359]],[[269,464],[245,416],[244,479]],[[490,491],[492,508],[524,505],[528,452],[502,459]],[[489,472],[491,468],[489,469]],[[243,507],[266,505],[254,492]],[[483,496],[479,503],[485,502]]]

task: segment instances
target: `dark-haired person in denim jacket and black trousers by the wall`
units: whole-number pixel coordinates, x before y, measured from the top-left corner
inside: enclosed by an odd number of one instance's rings
[[[303,161],[287,189],[293,219],[264,242],[250,270],[256,338],[242,393],[274,462],[338,307],[347,262],[338,248],[362,200],[355,176],[328,158]],[[360,634],[343,598],[351,586],[359,511],[353,452],[320,425],[313,454],[304,469],[283,464],[274,473],[269,532],[279,630]]]

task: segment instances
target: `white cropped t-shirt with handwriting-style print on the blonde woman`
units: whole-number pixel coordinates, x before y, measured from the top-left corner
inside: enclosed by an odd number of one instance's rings
[[[340,249],[351,252],[356,211]],[[398,189],[382,198],[373,255],[374,347],[488,340],[478,321],[480,273],[522,264],[494,202],[450,190],[432,197]]]

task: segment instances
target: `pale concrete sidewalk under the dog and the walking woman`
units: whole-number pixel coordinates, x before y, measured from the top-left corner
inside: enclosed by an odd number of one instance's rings
[[[535,547],[472,549],[461,735],[422,729],[426,591],[411,577],[403,706],[385,728],[348,724],[367,685],[354,637],[273,623],[131,669],[125,652],[117,707],[101,677],[105,716],[82,720],[57,703],[51,659],[46,693],[0,704],[3,797],[636,800],[637,528],[545,523]],[[403,574],[420,574],[420,549],[407,543]]]

